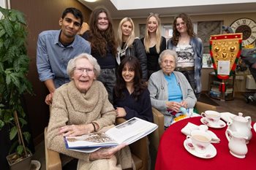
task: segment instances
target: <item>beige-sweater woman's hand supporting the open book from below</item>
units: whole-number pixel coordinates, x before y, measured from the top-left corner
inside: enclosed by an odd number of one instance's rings
[[[126,147],[127,144],[119,144],[117,147],[102,148],[90,154],[90,161],[98,159],[110,159],[116,152]]]

